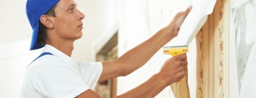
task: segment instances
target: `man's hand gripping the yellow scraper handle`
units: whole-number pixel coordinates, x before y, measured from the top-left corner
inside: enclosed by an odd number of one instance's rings
[[[181,80],[186,75],[186,67],[188,65],[188,62],[185,61],[186,59],[186,54],[180,54],[165,61],[159,74],[162,76],[166,86]]]

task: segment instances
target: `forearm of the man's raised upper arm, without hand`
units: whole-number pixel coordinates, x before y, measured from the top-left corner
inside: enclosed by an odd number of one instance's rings
[[[163,28],[159,32],[157,32],[150,39],[141,43],[133,49],[130,49],[121,57],[119,57],[116,62],[119,62],[124,66],[124,75],[128,75],[138,68],[142,67],[146,64],[149,59],[166,43],[168,43],[172,38],[171,31],[169,28]]]

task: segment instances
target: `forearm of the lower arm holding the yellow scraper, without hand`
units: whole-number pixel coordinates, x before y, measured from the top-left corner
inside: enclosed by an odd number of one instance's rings
[[[138,87],[120,95],[115,98],[154,98],[157,96],[165,87],[166,83],[163,81],[161,76],[157,73],[149,78],[146,82],[139,85]]]

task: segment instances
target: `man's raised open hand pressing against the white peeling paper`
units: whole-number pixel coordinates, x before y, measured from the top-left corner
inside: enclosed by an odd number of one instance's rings
[[[178,35],[180,26],[184,22],[187,15],[190,13],[191,9],[192,6],[189,6],[189,8],[185,12],[177,13],[172,19],[171,23],[165,27],[165,29],[169,34],[171,34],[171,36],[176,37]]]

